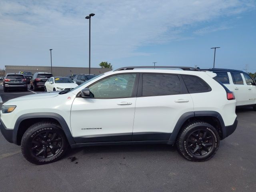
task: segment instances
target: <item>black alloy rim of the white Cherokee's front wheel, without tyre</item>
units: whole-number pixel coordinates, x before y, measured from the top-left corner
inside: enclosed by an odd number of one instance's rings
[[[58,133],[50,130],[40,132],[31,142],[31,152],[39,158],[49,158],[54,156],[62,146],[62,139]]]

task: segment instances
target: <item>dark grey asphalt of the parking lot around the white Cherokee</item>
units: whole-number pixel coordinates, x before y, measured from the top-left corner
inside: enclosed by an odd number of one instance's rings
[[[3,92],[0,86],[0,101],[38,93]],[[0,133],[0,192],[255,192],[256,112],[243,108],[236,114],[236,131],[206,162],[189,162],[174,146],[129,145],[78,148],[58,162],[38,166]]]

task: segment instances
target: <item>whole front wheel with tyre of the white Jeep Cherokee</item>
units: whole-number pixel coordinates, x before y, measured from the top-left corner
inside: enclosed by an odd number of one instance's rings
[[[38,122],[24,133],[21,140],[23,156],[34,164],[47,164],[62,158],[68,141],[60,126],[53,122]]]

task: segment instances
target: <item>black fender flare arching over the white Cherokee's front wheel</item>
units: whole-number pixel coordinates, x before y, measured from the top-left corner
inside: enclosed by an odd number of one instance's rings
[[[51,112],[28,113],[28,114],[19,116],[15,122],[14,131],[13,131],[13,135],[12,135],[12,141],[14,144],[17,144],[17,134],[18,134],[18,129],[19,129],[20,123],[23,120],[31,119],[31,118],[53,118],[53,119],[57,120],[60,123],[60,126],[62,127],[62,130],[64,131],[69,144],[70,145],[75,144],[74,138],[73,138],[73,136],[70,132],[70,129],[68,127],[68,124],[66,123],[64,118],[57,113],[51,113]]]

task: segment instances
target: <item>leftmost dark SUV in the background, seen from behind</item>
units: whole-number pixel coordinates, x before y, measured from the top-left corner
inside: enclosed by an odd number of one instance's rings
[[[12,88],[12,89],[22,88],[25,91],[28,90],[26,78],[24,77],[24,75],[16,74],[16,73],[6,74],[4,81],[3,81],[3,86],[4,86],[4,92],[7,92],[10,88]]]

